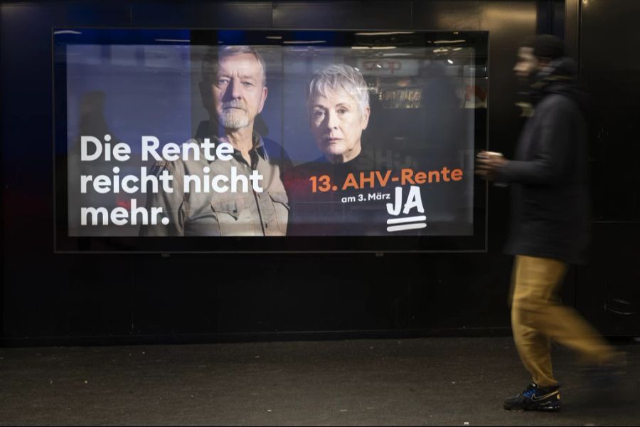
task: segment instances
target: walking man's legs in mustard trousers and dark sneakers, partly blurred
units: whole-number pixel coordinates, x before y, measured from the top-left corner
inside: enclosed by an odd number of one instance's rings
[[[550,258],[517,255],[514,269],[513,338],[524,366],[533,377],[533,384],[513,398],[516,400],[505,401],[505,408],[560,409],[560,392],[553,376],[549,340],[574,349],[580,355],[589,376],[587,386],[594,391],[594,403],[617,401],[615,396],[625,365],[624,354],[616,352],[575,310],[560,304],[558,291],[567,265]],[[540,404],[541,396],[555,396],[556,392],[553,405]]]

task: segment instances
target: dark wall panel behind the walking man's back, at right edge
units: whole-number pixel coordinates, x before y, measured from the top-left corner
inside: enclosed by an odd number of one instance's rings
[[[592,263],[578,271],[577,308],[611,334],[640,330],[639,1],[584,1],[582,83],[592,95]]]

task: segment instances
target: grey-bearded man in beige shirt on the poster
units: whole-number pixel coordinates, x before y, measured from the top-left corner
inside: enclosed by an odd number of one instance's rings
[[[250,46],[213,48],[203,58],[202,73],[200,89],[210,122],[195,141],[203,147],[222,145],[225,149],[218,151],[225,154],[156,162],[157,175],[173,177],[173,191],[149,193],[147,206],[162,208],[166,217],[159,225],[143,226],[140,235],[284,236],[286,156],[254,130],[267,99],[265,61]]]

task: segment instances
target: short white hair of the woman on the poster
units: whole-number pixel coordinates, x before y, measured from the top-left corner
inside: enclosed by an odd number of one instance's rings
[[[340,91],[348,93],[356,100],[360,117],[363,117],[369,106],[367,83],[362,73],[351,65],[334,64],[317,71],[309,82],[309,88],[307,88],[307,105],[311,108],[311,101],[314,98],[328,97],[329,92]]]

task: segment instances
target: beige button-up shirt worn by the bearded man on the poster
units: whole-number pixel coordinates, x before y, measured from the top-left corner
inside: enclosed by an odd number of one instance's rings
[[[212,138],[216,147],[220,139]],[[200,141],[191,139],[189,142]],[[250,151],[251,164],[234,149],[230,160],[214,159],[208,161],[203,156],[199,160],[177,160],[175,162],[156,162],[152,172],[159,176],[165,170],[173,176],[173,192],[162,191],[147,194],[147,208],[162,208],[162,215],[169,218],[166,226],[143,226],[141,236],[284,236],[287,233],[289,200],[282,184],[281,167],[276,164],[265,150],[260,135],[254,133],[253,148]],[[207,169],[208,168],[208,172]],[[232,168],[236,175],[247,177],[248,190],[231,192],[230,181],[219,182],[228,185],[224,192],[196,191],[196,184],[189,183],[189,191],[184,191],[183,183],[187,175],[198,176],[203,184],[214,176],[231,178]],[[259,186],[262,192],[255,191],[249,180],[253,171],[262,176]]]

